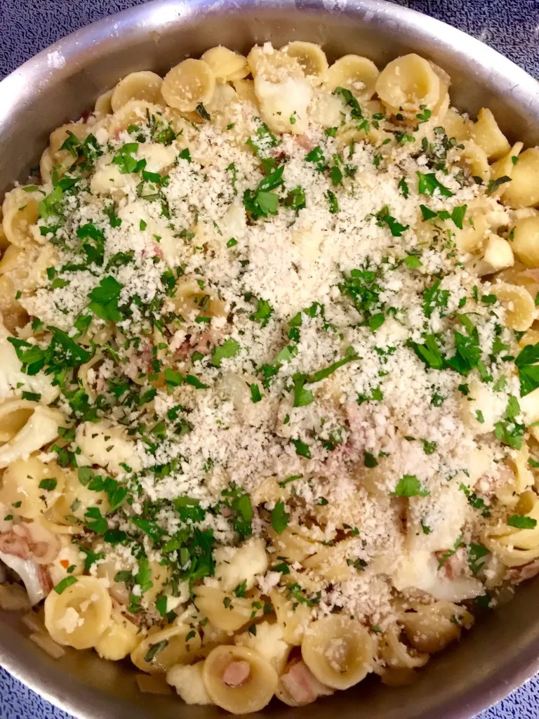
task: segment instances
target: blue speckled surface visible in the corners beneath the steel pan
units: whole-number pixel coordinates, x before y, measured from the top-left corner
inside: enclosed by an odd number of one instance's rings
[[[0,0],[0,78],[69,32],[143,1]],[[539,0],[397,3],[469,32],[539,78]],[[0,719],[69,718],[0,669]],[[539,675],[477,719],[539,719]]]

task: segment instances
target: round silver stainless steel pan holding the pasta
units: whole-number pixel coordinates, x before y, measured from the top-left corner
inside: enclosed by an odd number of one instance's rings
[[[0,194],[24,179],[47,134],[91,109],[132,70],[164,73],[185,55],[223,44],[320,42],[329,58],[349,52],[379,65],[419,52],[451,74],[451,99],[474,114],[489,106],[510,139],[539,143],[539,84],[481,42],[437,20],[377,0],[160,0],[86,27],[41,52],[0,83]],[[83,719],[211,719],[214,707],[142,695],[132,667],[68,651],[53,661],[13,614],[0,613],[0,664]],[[368,679],[303,709],[272,705],[279,718],[465,719],[539,670],[539,581],[479,620],[459,645],[435,657],[407,687]]]

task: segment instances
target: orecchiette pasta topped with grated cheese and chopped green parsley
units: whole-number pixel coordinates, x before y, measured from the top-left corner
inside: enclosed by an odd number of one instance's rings
[[[539,572],[539,148],[449,86],[213,47],[6,193],[0,607],[49,654],[306,705]]]

